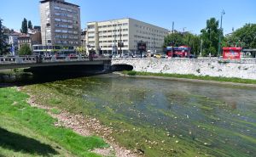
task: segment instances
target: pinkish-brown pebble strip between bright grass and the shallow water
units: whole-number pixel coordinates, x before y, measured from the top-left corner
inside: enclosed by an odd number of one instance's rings
[[[20,87],[22,90],[22,87]],[[28,93],[31,95],[31,93]],[[110,147],[103,149],[92,149],[91,151],[103,156],[117,156],[117,157],[137,157],[137,154],[132,153],[131,150],[120,147],[117,143],[114,143],[111,133],[113,132],[111,127],[102,126],[100,121],[90,116],[84,116],[82,114],[72,114],[64,109],[57,109],[55,107],[49,107],[44,104],[37,104],[36,96],[31,95],[28,99],[28,104],[39,109],[46,109],[47,113],[57,120],[55,126],[67,127],[78,133],[83,137],[99,136],[106,141]]]

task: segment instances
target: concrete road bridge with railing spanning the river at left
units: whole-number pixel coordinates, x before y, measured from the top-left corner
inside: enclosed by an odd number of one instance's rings
[[[104,70],[111,66],[111,59],[107,57],[89,58],[86,56],[11,56],[0,57],[0,70],[15,68],[32,68],[61,65],[103,65]]]

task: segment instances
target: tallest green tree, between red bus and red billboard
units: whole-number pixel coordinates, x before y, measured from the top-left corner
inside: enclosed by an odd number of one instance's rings
[[[222,31],[218,30],[218,20],[211,18],[207,20],[207,27],[201,30],[201,37],[203,40],[203,56],[211,53],[214,56],[218,55],[218,37],[223,36]]]

